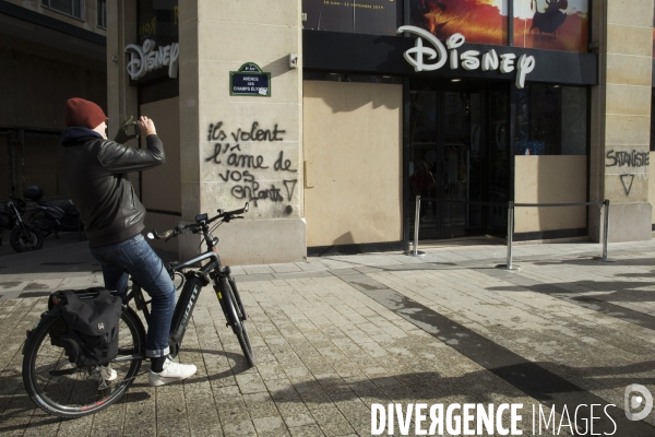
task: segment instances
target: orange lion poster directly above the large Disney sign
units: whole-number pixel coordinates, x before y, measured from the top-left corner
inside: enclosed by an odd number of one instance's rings
[[[410,23],[439,39],[461,33],[467,43],[508,44],[508,0],[408,0]]]

